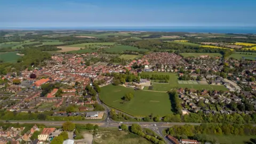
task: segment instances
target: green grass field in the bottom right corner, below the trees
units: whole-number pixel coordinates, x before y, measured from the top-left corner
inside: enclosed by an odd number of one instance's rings
[[[217,138],[219,143],[226,144],[244,144],[250,142],[250,139],[256,139],[255,135],[212,135],[212,137]]]

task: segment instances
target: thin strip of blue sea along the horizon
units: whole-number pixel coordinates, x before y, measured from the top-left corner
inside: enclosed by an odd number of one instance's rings
[[[162,31],[187,33],[256,34],[255,27],[24,27],[22,30]]]

